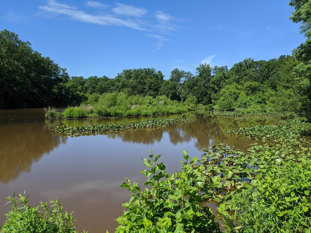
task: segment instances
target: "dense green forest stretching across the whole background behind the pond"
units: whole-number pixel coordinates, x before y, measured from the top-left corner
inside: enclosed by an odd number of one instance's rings
[[[294,7],[295,1],[292,1]],[[306,37],[293,51],[268,61],[246,58],[227,66],[200,64],[195,74],[175,68],[169,79],[154,68],[123,70],[116,77],[69,76],[49,57],[42,57],[8,30],[0,32],[0,108],[75,106],[94,103],[103,93],[161,96],[218,110],[271,108],[310,114],[311,30],[303,8],[290,19],[302,22]],[[302,10],[301,10],[302,9]]]

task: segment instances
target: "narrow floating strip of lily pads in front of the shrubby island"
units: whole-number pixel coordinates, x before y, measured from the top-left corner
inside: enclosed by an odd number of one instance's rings
[[[53,131],[58,134],[64,135],[95,135],[95,134],[107,134],[116,133],[129,130],[142,130],[151,128],[165,128],[172,124],[178,123],[190,123],[193,122],[192,119],[187,118],[168,118],[168,119],[152,119],[140,122],[134,122],[130,124],[120,124],[120,125],[95,125],[95,126],[56,126]]]

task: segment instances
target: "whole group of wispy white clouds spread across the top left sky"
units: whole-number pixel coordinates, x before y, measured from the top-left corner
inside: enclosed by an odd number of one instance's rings
[[[148,11],[143,7],[121,3],[114,4],[114,8],[109,8],[108,5],[101,2],[87,1],[85,5],[87,7],[105,9],[105,13],[100,12],[96,14],[94,12],[86,12],[73,5],[60,3],[58,0],[46,0],[46,4],[39,6],[39,9],[44,15],[50,12],[57,15],[65,15],[72,20],[84,23],[123,26],[146,31],[148,33],[146,36],[158,40],[153,51],[160,49],[165,41],[169,41],[169,37],[180,28],[176,25],[178,22],[185,21],[185,19],[176,18],[162,11],[155,11],[153,17],[151,17],[151,13],[147,14]]]

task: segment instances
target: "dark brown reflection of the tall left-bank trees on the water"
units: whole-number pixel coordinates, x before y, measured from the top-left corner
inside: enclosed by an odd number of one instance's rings
[[[51,128],[42,124],[37,111],[5,110],[0,112],[0,182],[18,178],[21,172],[31,171],[33,162],[48,154],[67,138],[50,134]],[[39,111],[43,114],[43,111]]]

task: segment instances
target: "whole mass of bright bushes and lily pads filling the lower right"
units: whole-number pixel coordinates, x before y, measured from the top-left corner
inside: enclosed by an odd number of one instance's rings
[[[228,233],[310,233],[311,148],[305,147],[305,139],[297,140],[308,129],[303,122],[286,122],[297,128],[291,139],[273,146],[253,144],[246,153],[214,145],[202,150],[201,159],[190,161],[184,151],[183,171],[171,176],[157,162],[160,155],[151,154],[143,163],[148,169],[141,171],[151,189],[141,191],[128,179],[121,185],[132,197],[123,204],[128,211],[117,219],[116,232],[217,232],[217,217]],[[288,129],[282,130],[278,133]],[[219,204],[217,216],[195,214],[211,202]],[[206,228],[196,228],[198,218]]]

